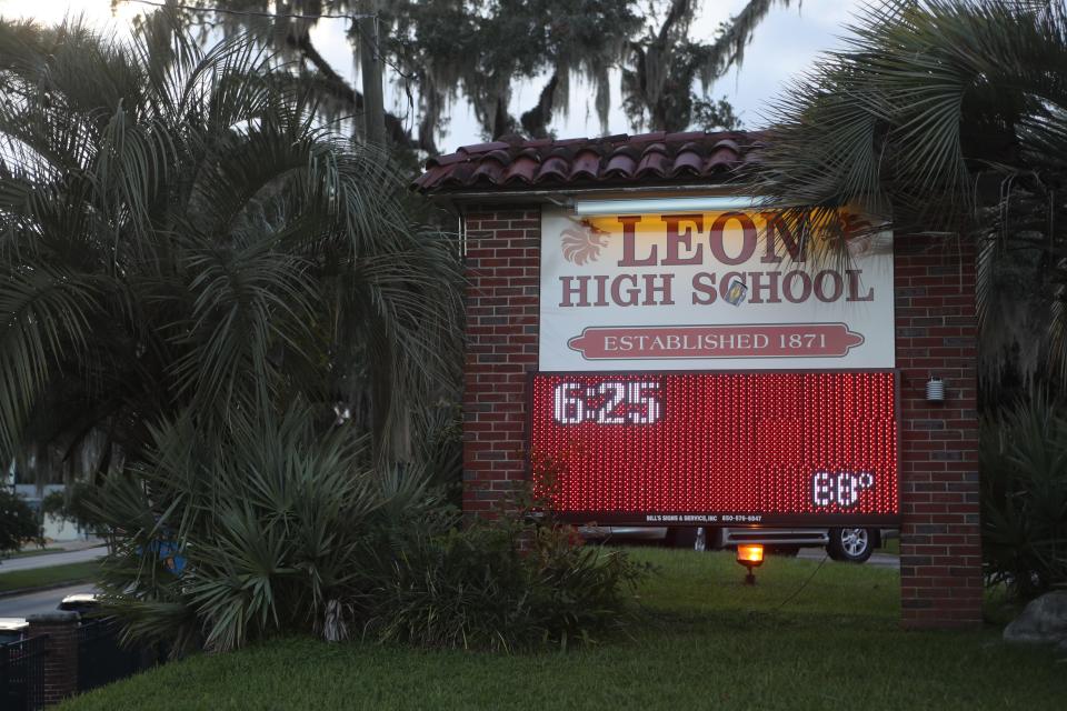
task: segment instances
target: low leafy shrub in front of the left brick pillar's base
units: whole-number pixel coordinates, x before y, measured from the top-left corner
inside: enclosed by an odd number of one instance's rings
[[[425,647],[566,648],[625,627],[645,573],[621,551],[582,547],[570,527],[416,532],[382,567],[368,629]]]

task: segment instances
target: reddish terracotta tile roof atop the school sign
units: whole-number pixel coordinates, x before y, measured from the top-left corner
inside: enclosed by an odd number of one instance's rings
[[[721,182],[754,159],[762,136],[739,131],[641,133],[597,139],[505,136],[426,161],[411,183],[423,193]]]

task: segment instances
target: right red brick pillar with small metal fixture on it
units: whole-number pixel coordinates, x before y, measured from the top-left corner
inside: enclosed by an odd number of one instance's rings
[[[981,622],[975,251],[897,237],[900,604],[905,627]],[[926,381],[945,381],[944,403]]]

